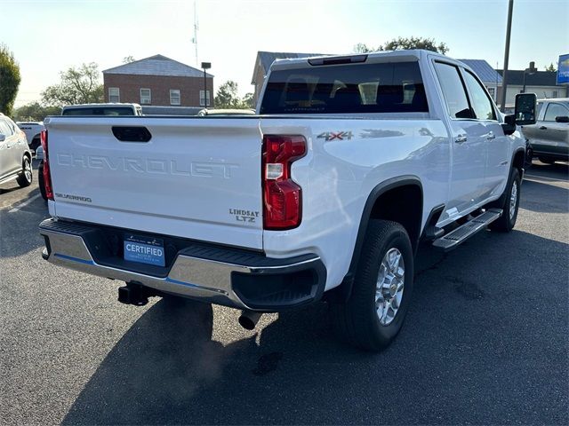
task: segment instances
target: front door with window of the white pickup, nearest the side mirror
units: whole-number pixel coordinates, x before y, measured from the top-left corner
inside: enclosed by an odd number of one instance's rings
[[[470,105],[476,121],[485,127],[483,142],[486,151],[485,179],[482,198],[486,199],[500,194],[504,190],[509,175],[509,138],[504,134],[501,123],[498,122],[493,101],[475,75],[463,69],[462,75],[469,90]]]

